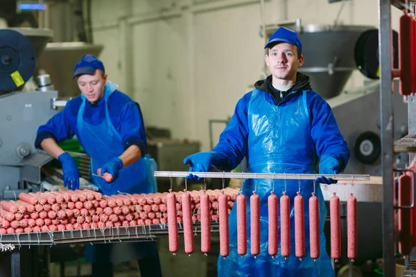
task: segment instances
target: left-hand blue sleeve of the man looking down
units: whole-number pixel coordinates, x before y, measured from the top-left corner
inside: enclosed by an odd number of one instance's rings
[[[45,125],[41,125],[37,129],[37,135],[35,140],[35,148],[42,149],[40,143],[44,139],[54,139],[56,143],[60,143],[67,139],[72,139],[75,132],[71,127],[70,118],[69,118],[69,109],[70,109],[69,102],[67,105],[62,109],[62,111],[55,114],[51,119],[46,122]]]

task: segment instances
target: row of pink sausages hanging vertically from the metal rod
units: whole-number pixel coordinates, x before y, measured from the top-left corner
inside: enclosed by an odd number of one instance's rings
[[[211,204],[218,204],[218,220],[220,225],[220,256],[229,256],[229,230],[228,215],[230,213],[231,197],[235,197],[235,190],[232,195],[228,195],[229,190],[225,189],[219,195],[214,195],[217,202],[212,202],[213,195],[200,192],[200,219],[201,222],[201,251],[207,255],[210,250],[210,220],[214,219],[211,215]],[[295,256],[302,260],[305,256],[305,229],[304,229],[304,198],[300,193],[293,199],[295,209]],[[167,195],[168,208],[168,232],[169,232],[169,251],[175,252],[177,245],[177,203],[182,203],[182,221],[184,228],[184,249],[189,255],[193,253],[193,225],[192,225],[192,199],[191,193],[186,190],[184,193],[169,193]],[[268,197],[268,253],[274,259],[278,251],[278,222],[280,201],[280,233],[281,233],[281,256],[287,258],[291,255],[291,207],[288,195],[283,195],[278,199],[273,192]],[[247,213],[246,199],[241,193],[236,197],[237,202],[237,253],[244,256],[247,253]],[[232,205],[231,205],[232,206]],[[349,259],[356,258],[357,255],[357,215],[356,198],[351,195],[347,200],[347,256]],[[331,218],[331,256],[337,260],[341,255],[341,234],[340,234],[340,199],[334,193],[330,199],[330,218]],[[215,217],[216,219],[216,217]],[[310,248],[311,258],[314,260],[320,257],[320,230],[319,230],[319,206],[318,197],[314,194],[309,198],[309,229],[310,229]],[[256,258],[260,253],[260,197],[253,192],[250,196],[250,253]],[[353,260],[354,261],[354,260]]]

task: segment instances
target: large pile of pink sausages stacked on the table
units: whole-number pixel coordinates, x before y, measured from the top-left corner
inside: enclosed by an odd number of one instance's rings
[[[234,191],[235,200],[237,192]],[[210,217],[218,219],[218,202],[211,195]],[[176,203],[175,220],[182,222],[183,211],[179,201]],[[200,201],[198,191],[192,195],[191,220],[200,220]],[[230,193],[231,194],[231,193]],[[102,195],[92,190],[60,190],[45,193],[20,193],[17,201],[0,202],[0,234],[63,231],[74,229],[94,229],[119,226],[166,224],[168,220],[168,193],[149,193],[134,195]],[[227,203],[231,211],[234,202]]]

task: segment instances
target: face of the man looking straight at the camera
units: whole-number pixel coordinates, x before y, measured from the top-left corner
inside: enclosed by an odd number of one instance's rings
[[[264,60],[275,78],[296,80],[297,66],[302,66],[304,57],[297,57],[297,46],[281,42],[268,50]]]

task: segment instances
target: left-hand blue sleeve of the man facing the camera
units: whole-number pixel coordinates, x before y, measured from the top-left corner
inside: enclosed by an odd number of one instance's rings
[[[247,154],[248,138],[248,101],[251,93],[246,93],[237,102],[234,114],[224,131],[220,134],[218,144],[211,152],[216,154],[216,164],[220,170],[233,170]]]

